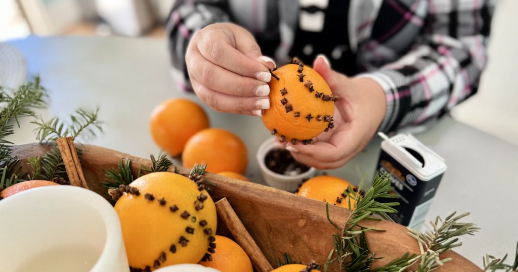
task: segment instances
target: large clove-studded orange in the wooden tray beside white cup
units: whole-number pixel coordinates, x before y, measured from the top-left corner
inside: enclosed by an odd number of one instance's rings
[[[129,186],[114,208],[130,266],[156,269],[202,260],[216,232],[210,195],[191,179],[170,172],[141,176]]]

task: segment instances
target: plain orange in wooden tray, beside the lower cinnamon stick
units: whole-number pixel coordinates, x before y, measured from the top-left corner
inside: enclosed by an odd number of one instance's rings
[[[212,261],[202,261],[199,264],[224,272],[253,272],[250,258],[235,241],[216,235],[215,243],[216,252],[212,253]]]

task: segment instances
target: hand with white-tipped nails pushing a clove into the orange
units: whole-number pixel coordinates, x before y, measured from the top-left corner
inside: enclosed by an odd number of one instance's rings
[[[275,62],[254,37],[232,23],[208,25],[193,36],[185,62],[194,92],[214,110],[261,116],[270,107],[267,82]]]

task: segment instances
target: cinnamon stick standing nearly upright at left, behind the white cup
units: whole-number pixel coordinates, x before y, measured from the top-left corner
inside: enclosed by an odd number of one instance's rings
[[[79,162],[76,147],[74,146],[73,137],[61,137],[56,140],[57,147],[60,149],[63,163],[65,164],[66,173],[70,184],[88,189],[87,181],[84,179],[83,169]]]

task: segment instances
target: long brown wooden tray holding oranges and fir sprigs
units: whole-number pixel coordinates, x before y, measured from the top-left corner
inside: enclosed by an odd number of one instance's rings
[[[107,190],[99,185],[105,177],[104,169],[117,168],[124,158],[132,160],[134,175],[141,165],[151,165],[150,160],[106,148],[81,145],[81,149],[82,169],[89,188],[105,197],[108,197]],[[40,144],[18,145],[13,147],[13,155],[18,157],[20,165],[28,167],[27,158],[44,155],[48,150],[47,146]],[[190,172],[190,169],[183,167],[178,169],[180,173]],[[253,182],[211,173],[205,176],[216,184],[210,193],[214,202],[223,197],[228,199],[274,268],[277,267],[277,257],[282,259],[285,252],[297,261],[325,263],[333,248],[332,235],[337,233],[326,218],[325,203]],[[350,214],[348,209],[337,206],[330,206],[329,212],[336,223],[344,223]],[[419,252],[418,243],[407,234],[404,226],[389,221],[367,221],[363,225],[385,230],[367,232],[371,252],[375,252],[376,257],[383,257],[376,260],[373,267],[379,267],[405,252]],[[219,227],[218,234],[227,235],[225,228]],[[438,271],[482,271],[453,251],[443,253],[442,257],[452,257],[453,261],[444,264]],[[339,271],[337,265],[330,270]]]

